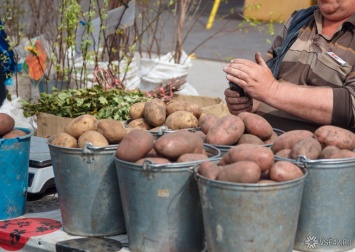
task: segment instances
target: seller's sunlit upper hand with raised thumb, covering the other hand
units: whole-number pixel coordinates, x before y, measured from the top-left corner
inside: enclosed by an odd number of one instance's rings
[[[223,70],[227,73],[227,80],[234,82],[243,88],[250,97],[260,101],[272,96],[279,84],[259,52],[255,54],[255,62],[246,59],[234,59]],[[228,97],[230,96],[228,94]],[[241,103],[245,102],[244,99],[239,98],[239,108]],[[237,102],[233,100],[230,101],[230,104],[236,105]],[[234,106],[234,108],[236,107]]]

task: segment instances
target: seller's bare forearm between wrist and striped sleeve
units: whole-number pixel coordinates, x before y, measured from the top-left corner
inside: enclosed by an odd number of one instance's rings
[[[262,102],[289,114],[318,124],[330,124],[333,90],[328,87],[299,86],[290,83],[272,85]]]

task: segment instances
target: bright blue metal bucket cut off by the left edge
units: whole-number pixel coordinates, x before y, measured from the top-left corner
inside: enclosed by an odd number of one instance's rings
[[[28,187],[28,164],[32,131],[16,138],[0,138],[0,220],[25,214]]]

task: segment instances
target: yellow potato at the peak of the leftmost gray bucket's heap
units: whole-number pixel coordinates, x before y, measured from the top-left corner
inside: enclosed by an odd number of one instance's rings
[[[85,114],[71,120],[65,127],[64,132],[78,139],[84,132],[97,129],[98,120],[95,116]]]

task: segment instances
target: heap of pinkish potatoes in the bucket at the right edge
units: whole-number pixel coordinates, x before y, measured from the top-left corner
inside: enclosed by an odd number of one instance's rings
[[[310,160],[355,157],[355,134],[350,130],[324,125],[314,132],[292,130],[280,135],[271,149],[275,156],[296,159],[304,156]]]

